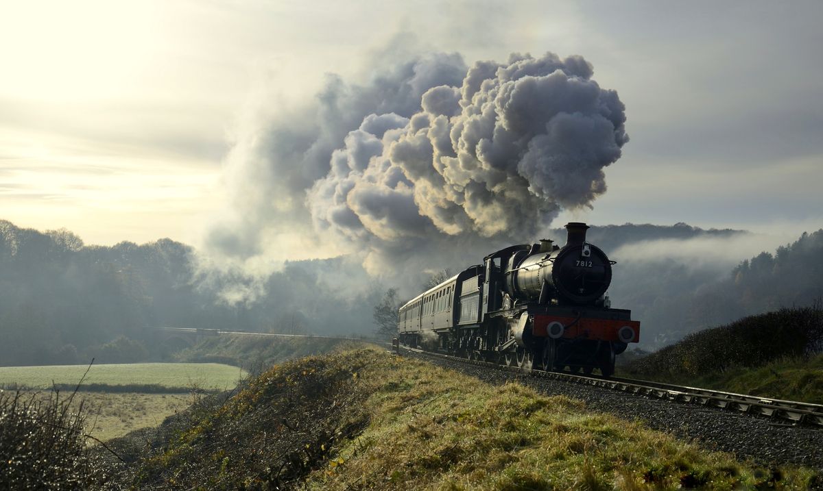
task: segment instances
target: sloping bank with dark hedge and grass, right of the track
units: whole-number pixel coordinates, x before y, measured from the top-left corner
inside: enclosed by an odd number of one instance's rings
[[[783,309],[691,334],[619,374],[823,404],[823,310]]]

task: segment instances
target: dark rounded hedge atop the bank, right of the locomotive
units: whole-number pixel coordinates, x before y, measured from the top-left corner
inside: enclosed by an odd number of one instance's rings
[[[681,342],[635,360],[626,371],[678,378],[748,368],[782,358],[811,356],[823,350],[820,306],[753,315],[719,328],[692,333]]]

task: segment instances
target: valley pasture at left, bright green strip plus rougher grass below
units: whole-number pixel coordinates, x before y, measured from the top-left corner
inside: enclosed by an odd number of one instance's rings
[[[39,390],[38,400],[45,401],[53,397],[49,388],[71,394],[86,369],[70,407],[77,411],[82,403],[86,433],[104,441],[157,426],[167,416],[184,411],[193,402],[194,389],[234,388],[245,374],[229,365],[183,363],[0,367],[0,387],[27,388],[26,394]]]

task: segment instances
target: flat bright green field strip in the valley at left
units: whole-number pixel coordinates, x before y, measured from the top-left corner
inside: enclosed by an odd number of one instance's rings
[[[12,384],[30,388],[50,388],[53,383],[80,382],[87,365],[0,367],[0,386]],[[234,388],[246,373],[230,365],[216,363],[134,363],[92,365],[83,384],[156,384],[174,388],[225,390]]]

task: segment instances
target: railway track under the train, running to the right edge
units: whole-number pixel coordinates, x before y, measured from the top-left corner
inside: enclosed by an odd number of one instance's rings
[[[565,372],[546,372],[543,370],[523,370],[516,366],[498,365],[490,361],[468,360],[458,356],[423,351],[410,346],[400,345],[400,349],[421,354],[455,360],[469,365],[487,366],[514,373],[527,373],[544,379],[563,380],[568,383],[580,383],[593,387],[608,388],[636,396],[654,397],[671,402],[708,406],[725,411],[759,415],[788,424],[803,424],[823,429],[823,405],[806,402],[782,401],[766,397],[749,396],[734,392],[723,392],[705,388],[694,388],[671,383],[652,382],[649,380],[621,379],[612,377],[603,379],[592,375],[569,374]]]

